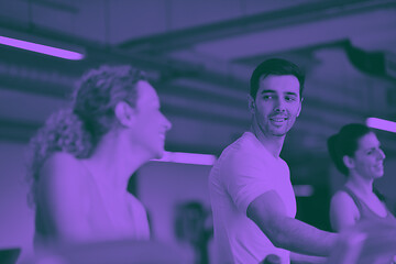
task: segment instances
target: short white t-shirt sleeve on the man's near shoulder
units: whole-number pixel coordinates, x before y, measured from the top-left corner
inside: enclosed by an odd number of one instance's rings
[[[275,175],[272,166],[258,156],[238,153],[223,165],[226,188],[237,208],[243,213],[246,213],[249,205],[255,198],[274,189]]]

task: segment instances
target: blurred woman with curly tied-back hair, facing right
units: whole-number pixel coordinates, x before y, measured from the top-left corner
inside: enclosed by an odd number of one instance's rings
[[[170,127],[142,72],[102,66],[84,75],[70,108],[31,141],[35,244],[147,240],[146,212],[128,180],[162,156]]]

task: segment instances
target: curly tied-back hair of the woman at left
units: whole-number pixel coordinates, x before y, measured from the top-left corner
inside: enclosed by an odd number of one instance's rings
[[[30,141],[26,175],[30,206],[35,205],[35,185],[46,158],[54,152],[89,157],[100,139],[117,124],[117,103],[127,101],[135,107],[139,80],[146,80],[145,74],[129,65],[105,65],[81,77],[72,106],[53,113]]]

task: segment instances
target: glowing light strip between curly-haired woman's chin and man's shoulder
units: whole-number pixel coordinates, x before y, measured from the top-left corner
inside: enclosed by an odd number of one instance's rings
[[[172,163],[185,163],[196,165],[213,165],[216,162],[215,155],[209,154],[196,154],[185,152],[165,152],[161,160],[152,160],[155,162],[172,162]]]

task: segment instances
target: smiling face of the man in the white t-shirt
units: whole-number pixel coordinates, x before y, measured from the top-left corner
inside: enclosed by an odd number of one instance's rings
[[[268,75],[260,81],[256,98],[250,98],[250,108],[264,135],[285,136],[301,111],[297,77]]]

